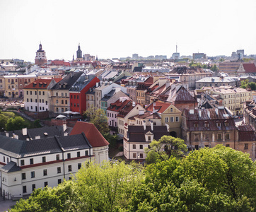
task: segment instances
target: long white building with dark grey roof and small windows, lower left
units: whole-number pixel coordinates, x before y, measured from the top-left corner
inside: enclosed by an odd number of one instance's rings
[[[85,134],[25,141],[0,136],[2,195],[20,199],[34,189],[56,187],[92,158],[93,148]]]

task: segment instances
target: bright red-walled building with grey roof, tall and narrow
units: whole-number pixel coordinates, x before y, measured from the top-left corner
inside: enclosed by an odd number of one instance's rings
[[[100,80],[93,74],[81,75],[69,89],[70,110],[83,114],[86,111],[86,93]]]

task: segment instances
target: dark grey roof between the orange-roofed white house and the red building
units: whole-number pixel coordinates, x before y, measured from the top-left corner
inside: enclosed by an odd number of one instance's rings
[[[69,88],[71,88],[71,86],[73,86],[74,83],[76,83],[76,81],[82,74],[83,74],[82,71],[69,73],[61,81],[59,81],[55,86],[53,86],[52,90],[69,90]]]

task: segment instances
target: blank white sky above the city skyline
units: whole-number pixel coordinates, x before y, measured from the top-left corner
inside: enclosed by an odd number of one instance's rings
[[[0,59],[256,54],[255,0],[0,0]]]

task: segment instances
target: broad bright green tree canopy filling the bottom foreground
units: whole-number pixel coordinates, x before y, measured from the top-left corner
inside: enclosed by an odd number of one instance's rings
[[[91,163],[11,211],[255,211],[255,174],[248,154],[220,145],[146,167]]]

